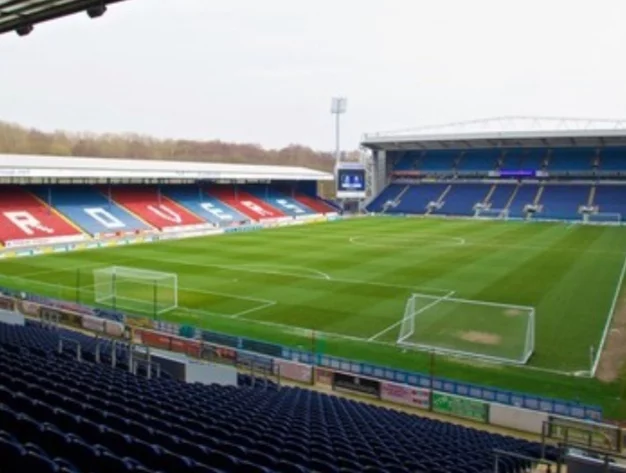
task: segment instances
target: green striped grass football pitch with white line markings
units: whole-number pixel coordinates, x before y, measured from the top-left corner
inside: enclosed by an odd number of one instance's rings
[[[536,346],[528,368],[438,357],[435,374],[601,404],[618,417],[626,415],[620,383],[549,371],[589,369],[589,347],[600,343],[624,263],[625,236],[619,227],[354,219],[11,259],[0,263],[0,285],[93,303],[95,268],[174,272],[181,307],[164,319],[305,349],[314,330],[327,354],[423,372],[426,354],[393,343],[411,294],[454,291],[458,298],[532,306]],[[477,332],[501,325],[478,315],[463,324]]]

